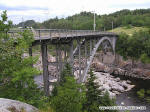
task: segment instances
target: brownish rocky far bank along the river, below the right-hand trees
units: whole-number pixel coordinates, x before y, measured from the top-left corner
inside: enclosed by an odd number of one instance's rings
[[[97,72],[106,72],[116,75],[124,75],[129,77],[150,79],[150,70],[141,68],[130,68],[129,64],[124,64],[123,67],[109,67],[101,62],[93,62],[91,67]],[[130,69],[129,69],[130,68]]]

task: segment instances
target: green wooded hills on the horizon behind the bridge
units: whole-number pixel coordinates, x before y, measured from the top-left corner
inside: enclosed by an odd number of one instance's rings
[[[19,23],[16,26],[32,26],[34,28],[48,28],[48,29],[72,29],[72,30],[93,30],[92,12],[81,12],[73,16],[58,19],[48,19],[42,23],[28,20]],[[96,30],[111,30],[113,27],[121,26],[144,26],[150,27],[150,9],[136,9],[136,10],[121,10],[108,15],[96,14]],[[30,25],[28,24],[30,23]]]

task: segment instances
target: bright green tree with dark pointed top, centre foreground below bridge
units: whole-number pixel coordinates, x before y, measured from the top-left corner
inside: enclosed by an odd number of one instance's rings
[[[51,105],[56,112],[81,112],[85,101],[83,86],[77,84],[67,63],[61,73],[60,82],[55,85]],[[82,91],[80,91],[82,90]]]

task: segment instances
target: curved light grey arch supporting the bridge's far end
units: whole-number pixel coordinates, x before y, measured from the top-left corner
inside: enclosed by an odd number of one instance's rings
[[[109,44],[110,44],[110,46],[111,46],[111,48],[112,48],[112,50],[113,50],[113,53],[115,54],[116,37],[111,37],[111,38],[110,38],[110,37],[104,36],[104,37],[100,38],[100,39],[98,40],[98,42],[95,44],[95,46],[94,46],[94,48],[93,48],[93,50],[92,50],[92,53],[91,53],[91,55],[90,55],[90,57],[89,57],[89,59],[88,59],[88,61],[87,61],[87,66],[86,66],[86,68],[84,69],[83,74],[81,75],[80,82],[85,82],[85,80],[86,80],[86,78],[87,78],[88,70],[89,70],[89,68],[90,68],[90,65],[91,65],[93,59],[94,59],[94,56],[95,56],[95,54],[96,54],[96,52],[97,52],[99,46],[100,46],[105,40],[107,40],[107,41],[109,42]]]

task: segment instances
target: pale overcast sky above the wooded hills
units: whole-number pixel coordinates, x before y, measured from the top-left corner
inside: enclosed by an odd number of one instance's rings
[[[0,0],[0,12],[7,10],[13,23],[28,19],[43,21],[81,11],[109,14],[121,9],[150,8],[150,0]]]

